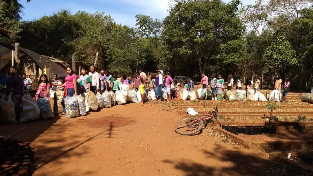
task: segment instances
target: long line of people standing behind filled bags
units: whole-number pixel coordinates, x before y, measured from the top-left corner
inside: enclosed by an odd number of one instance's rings
[[[47,97],[49,98],[50,87],[52,91],[64,91],[64,97],[66,96],[74,96],[80,95],[85,92],[93,92],[103,94],[105,91],[115,91],[119,90],[120,84],[126,84],[135,91],[139,91],[141,95],[141,102],[139,104],[144,103],[145,94],[147,96],[147,88],[155,91],[156,101],[161,101],[164,99],[165,101],[176,100],[179,96],[179,91],[193,91],[194,90],[194,82],[191,78],[185,80],[181,85],[179,80],[173,80],[169,73],[164,73],[163,70],[156,70],[155,75],[151,75],[150,79],[145,74],[141,67],[138,68],[138,72],[135,76],[131,75],[111,75],[109,70],[99,69],[99,72],[95,70],[95,65],[90,65],[89,68],[83,67],[80,70],[80,73],[74,71],[70,66],[66,68],[67,75],[64,79],[59,78],[58,75],[54,74],[53,79],[49,82],[48,76],[42,74],[38,81],[38,87],[35,94],[35,100],[37,101],[39,98]],[[213,100],[217,100],[217,95],[219,90],[224,91],[225,80],[222,75],[211,75],[208,78],[204,73],[202,76],[202,88],[208,89],[213,94]],[[313,78],[313,77],[312,77]],[[239,76],[233,77],[233,75],[228,75],[227,78],[227,90],[233,91],[234,86],[236,86],[236,90],[242,89],[242,79]],[[313,82],[313,80],[312,80]],[[12,94],[12,100],[14,102],[16,116],[19,116],[20,110],[20,98],[25,93],[29,94],[32,87],[32,80],[27,78],[26,74],[18,73],[16,67],[11,66],[9,68],[8,76],[5,75],[4,71],[1,71],[0,75],[0,90],[2,93],[6,93],[7,95]],[[4,88],[6,85],[6,89]],[[251,78],[247,78],[244,82],[245,90],[254,89],[255,91],[259,91],[260,89],[260,80],[257,76],[254,76],[253,80]],[[288,78],[285,78],[284,86],[282,85],[282,79],[280,75],[276,75],[275,86],[274,89],[280,91],[283,89],[283,94],[285,96],[285,101],[287,100],[287,95],[290,87],[290,81]],[[182,87],[182,89],[181,89]],[[5,90],[5,91],[3,91]],[[164,98],[164,93],[166,92],[167,97]],[[313,85],[312,90],[313,93]],[[162,98],[163,97],[163,98]],[[65,114],[66,111],[62,114]]]

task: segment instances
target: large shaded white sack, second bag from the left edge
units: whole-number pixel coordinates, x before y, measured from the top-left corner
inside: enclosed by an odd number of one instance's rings
[[[22,96],[21,101],[23,103],[23,117],[19,122],[24,123],[39,119],[40,109],[32,96],[26,94]]]

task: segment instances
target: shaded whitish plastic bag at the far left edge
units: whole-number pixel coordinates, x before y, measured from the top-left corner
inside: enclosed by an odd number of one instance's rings
[[[3,96],[1,100],[1,116],[0,121],[3,123],[17,123],[15,116],[14,102],[12,101],[12,92],[7,96]],[[8,98],[8,99],[6,99]]]

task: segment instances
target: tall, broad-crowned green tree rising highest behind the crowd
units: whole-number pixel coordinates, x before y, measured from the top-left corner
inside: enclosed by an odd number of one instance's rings
[[[239,3],[239,0],[231,3],[221,0],[178,1],[164,19],[162,33],[175,66],[185,65],[188,57],[197,58],[200,72],[216,63],[221,45],[243,36],[245,27],[238,16]]]

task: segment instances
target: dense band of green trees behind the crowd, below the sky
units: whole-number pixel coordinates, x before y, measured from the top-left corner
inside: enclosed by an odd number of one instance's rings
[[[103,12],[68,10],[20,21],[23,7],[10,0],[0,3],[0,23],[24,48],[61,60],[74,54],[86,65],[98,52],[96,67],[113,73],[132,74],[143,66],[196,78],[201,72],[255,74],[267,83],[280,73],[307,88],[313,71],[310,2],[258,0],[243,7],[239,0],[175,0],[166,18],[138,14],[136,27],[129,27]]]

